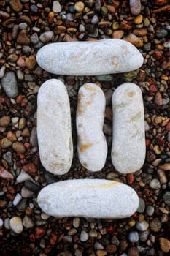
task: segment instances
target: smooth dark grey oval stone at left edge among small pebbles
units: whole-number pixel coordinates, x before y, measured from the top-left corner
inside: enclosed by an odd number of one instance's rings
[[[7,97],[15,98],[18,96],[17,78],[14,72],[9,71],[5,73],[4,77],[1,79],[1,86],[7,94]]]

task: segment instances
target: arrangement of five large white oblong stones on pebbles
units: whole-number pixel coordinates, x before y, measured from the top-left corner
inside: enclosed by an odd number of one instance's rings
[[[105,39],[46,45],[39,50],[37,61],[43,69],[58,75],[102,75],[138,69],[143,57],[129,42]],[[90,171],[101,170],[107,157],[102,132],[104,109],[103,91],[93,83],[83,85],[78,94],[77,151],[81,164]],[[112,112],[112,163],[120,173],[135,172],[145,157],[144,107],[139,87],[134,83],[119,86],[112,95]],[[37,132],[45,169],[55,175],[68,172],[73,156],[71,117],[69,97],[60,80],[47,80],[39,90]],[[139,206],[134,189],[102,179],[50,184],[42,189],[37,201],[42,211],[55,217],[119,219],[131,216]]]

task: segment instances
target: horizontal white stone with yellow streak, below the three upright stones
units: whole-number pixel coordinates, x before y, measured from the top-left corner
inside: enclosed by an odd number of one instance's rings
[[[139,206],[131,187],[104,179],[74,179],[48,185],[39,192],[37,202],[54,217],[125,218]]]

